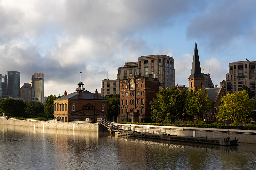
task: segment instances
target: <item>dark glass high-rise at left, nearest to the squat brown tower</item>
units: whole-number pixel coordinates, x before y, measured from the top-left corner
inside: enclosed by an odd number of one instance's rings
[[[20,72],[7,71],[7,96],[20,98]]]

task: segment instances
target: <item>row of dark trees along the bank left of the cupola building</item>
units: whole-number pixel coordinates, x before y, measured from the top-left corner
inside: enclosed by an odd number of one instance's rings
[[[36,118],[45,117],[52,118],[54,113],[54,101],[62,97],[63,95],[59,95],[56,97],[55,95],[50,95],[46,101],[45,105],[41,102],[23,102],[22,100],[14,100],[14,99],[1,99],[0,100],[0,113],[4,113],[6,116],[11,117],[24,117],[24,118]]]

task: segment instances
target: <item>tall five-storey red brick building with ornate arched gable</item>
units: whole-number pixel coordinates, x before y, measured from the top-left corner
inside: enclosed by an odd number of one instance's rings
[[[148,78],[129,76],[120,80],[118,122],[144,122],[144,119],[150,116],[149,100],[156,97],[159,86],[158,78],[153,78],[152,74],[149,74]]]

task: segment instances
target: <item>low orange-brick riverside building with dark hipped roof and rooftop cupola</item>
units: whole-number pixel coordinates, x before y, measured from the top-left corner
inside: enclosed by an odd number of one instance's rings
[[[91,93],[78,83],[76,92],[54,100],[54,118],[60,121],[89,121],[96,122],[97,118],[108,120],[108,100],[98,94]]]

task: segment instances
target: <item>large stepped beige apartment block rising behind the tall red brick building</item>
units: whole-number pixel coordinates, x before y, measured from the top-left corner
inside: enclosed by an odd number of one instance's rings
[[[173,57],[167,55],[147,55],[138,58],[137,62],[125,63],[117,69],[117,79],[127,79],[130,75],[158,78],[164,88],[175,84],[175,69]]]

